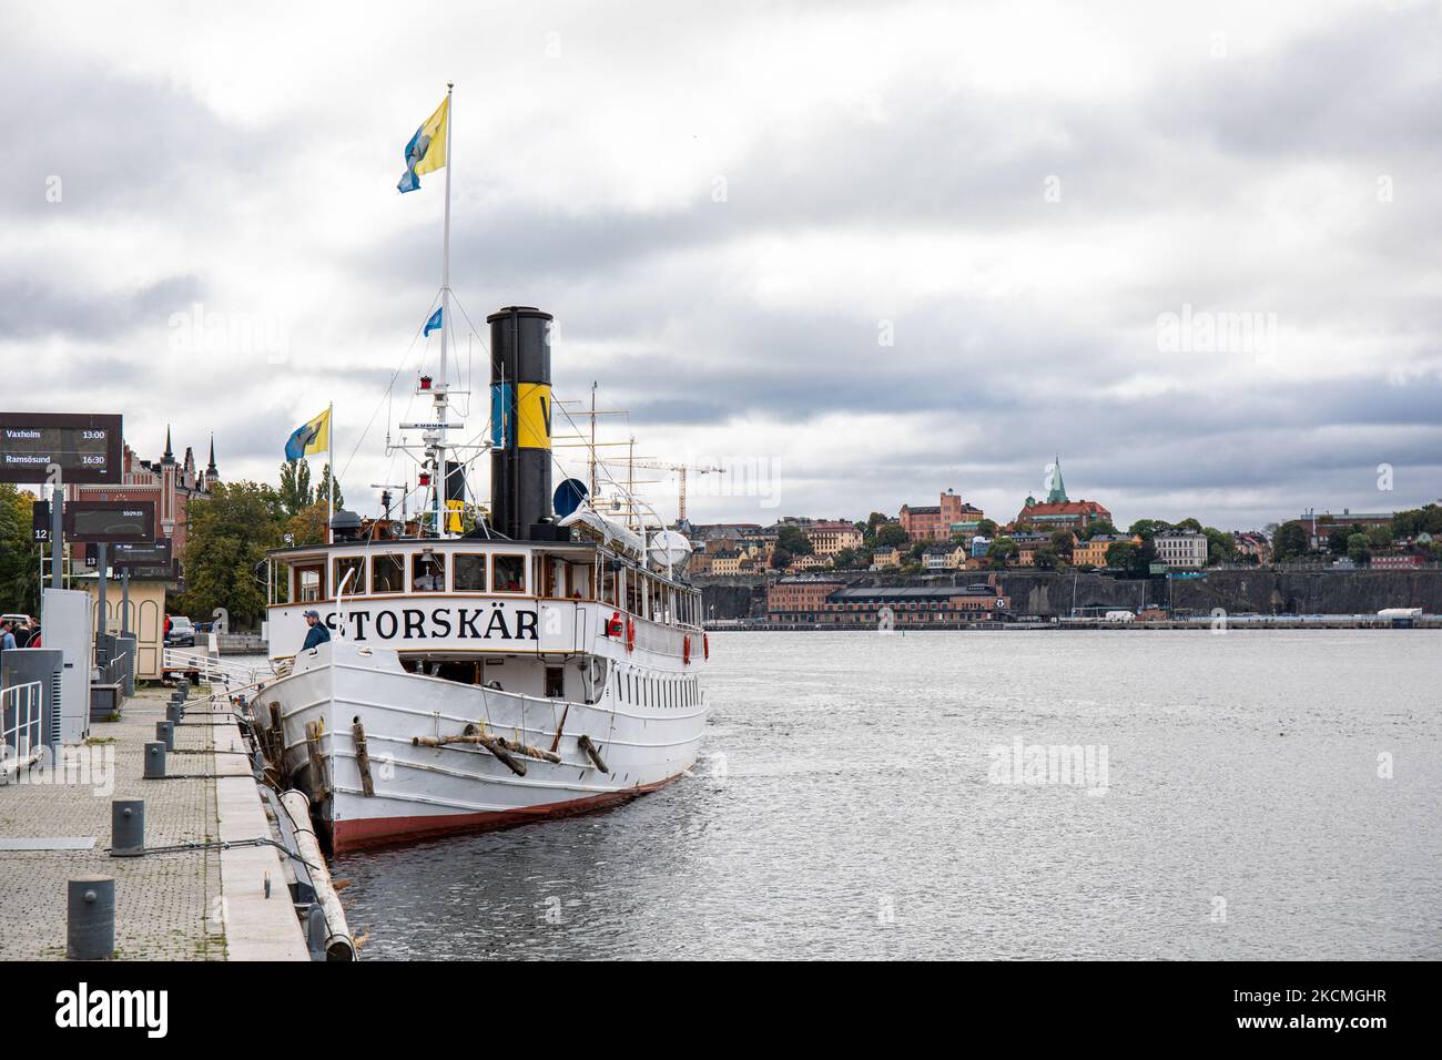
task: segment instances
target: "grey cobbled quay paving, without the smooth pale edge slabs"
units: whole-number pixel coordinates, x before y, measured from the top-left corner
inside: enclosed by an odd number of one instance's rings
[[[192,691],[190,708],[211,710]],[[215,780],[143,780],[144,744],[154,741],[170,689],[137,688],[120,721],[94,723],[81,769],[35,770],[0,786],[0,838],[94,838],[88,851],[0,851],[0,959],[65,956],[66,881],[115,877],[115,956],[224,960],[218,849],[112,858],[112,799],[146,800],[146,847],[219,835]],[[224,701],[222,701],[224,702]],[[176,730],[167,772],[215,773],[212,718],[187,717]]]

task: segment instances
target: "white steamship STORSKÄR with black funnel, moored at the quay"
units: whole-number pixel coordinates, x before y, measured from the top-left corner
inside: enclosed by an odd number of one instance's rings
[[[577,480],[552,495],[551,323],[487,317],[490,505],[473,529],[448,503],[464,461],[443,345],[440,379],[418,382],[423,518],[337,512],[327,544],[268,557],[284,676],[251,710],[336,852],[596,809],[696,759],[709,645],[679,574],[689,545],[609,518]],[[298,650],[311,610],[330,640]]]

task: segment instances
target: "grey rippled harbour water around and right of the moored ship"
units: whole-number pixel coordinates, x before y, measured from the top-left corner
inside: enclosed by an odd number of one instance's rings
[[[1442,633],[711,643],[694,777],[339,860],[363,956],[1442,958]]]

